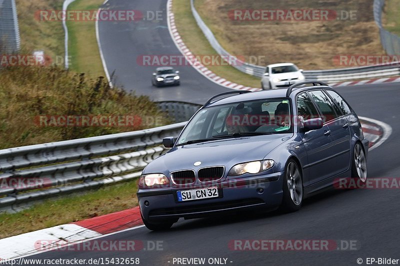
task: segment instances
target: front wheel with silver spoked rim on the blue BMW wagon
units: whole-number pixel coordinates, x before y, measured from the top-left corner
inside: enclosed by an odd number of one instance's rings
[[[300,210],[303,201],[303,184],[299,166],[290,159],[287,161],[284,180],[283,198],[280,209],[283,212],[295,212]]]

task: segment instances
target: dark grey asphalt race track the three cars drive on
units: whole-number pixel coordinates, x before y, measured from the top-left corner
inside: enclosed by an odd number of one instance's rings
[[[165,10],[165,0],[111,0],[125,9]],[[153,67],[136,64],[140,54],[178,54],[164,20],[157,22],[99,25],[100,40],[108,70],[115,70],[116,85],[136,89],[155,100],[203,103],[209,96],[226,91],[190,67],[180,67],[180,87],[151,87]],[[369,153],[368,178],[400,177],[400,84],[338,87],[360,116],[383,121],[392,134]],[[162,251],[78,252],[52,251],[30,259],[139,258],[140,265],[173,265],[173,258],[227,258],[227,265],[357,265],[361,258],[400,259],[400,190],[332,190],[304,201],[291,214],[238,214],[218,218],[179,220],[170,231],[150,232],[138,228],[103,240],[162,241]],[[356,251],[232,251],[231,240],[355,240]],[[170,263],[168,263],[170,262]],[[231,262],[231,263],[230,263]],[[176,263],[175,263],[176,265]],[[207,265],[207,264],[206,264]]]

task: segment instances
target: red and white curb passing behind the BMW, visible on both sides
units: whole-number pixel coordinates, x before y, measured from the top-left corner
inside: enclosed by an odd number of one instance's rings
[[[389,125],[359,117],[369,150],[380,146],[391,134]],[[77,243],[102,238],[143,227],[138,207],[91,219],[42,229],[0,240],[0,262],[61,249]],[[54,248],[55,247],[55,248]]]

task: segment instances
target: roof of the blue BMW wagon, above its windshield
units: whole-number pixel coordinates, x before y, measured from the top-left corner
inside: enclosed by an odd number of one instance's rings
[[[304,87],[296,87],[295,90],[293,90],[291,94],[293,94],[293,92],[295,94],[298,94],[302,91],[310,90],[310,89],[334,90],[329,86],[319,86],[319,85],[318,86],[304,86]],[[255,91],[255,92],[251,92],[251,93],[237,94],[237,95],[228,96],[228,97],[222,98],[220,100],[211,102],[206,107],[229,104],[229,103],[234,103],[234,102],[244,102],[244,101],[253,101],[253,100],[261,100],[261,99],[271,99],[271,98],[286,98],[286,92],[287,92],[287,88],[282,88],[282,89],[260,90],[260,91]]]

